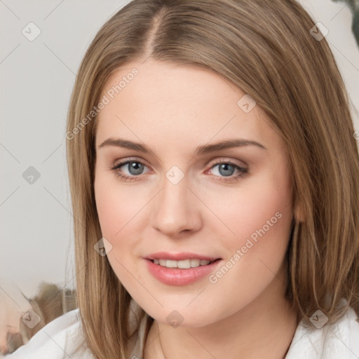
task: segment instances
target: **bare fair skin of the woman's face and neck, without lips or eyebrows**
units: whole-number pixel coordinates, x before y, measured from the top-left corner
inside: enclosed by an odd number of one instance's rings
[[[294,211],[283,142],[259,106],[238,107],[245,94],[233,83],[197,67],[133,62],[112,74],[102,95],[133,67],[139,74],[97,116],[95,200],[114,273],[155,319],[144,358],[284,358],[298,320],[284,298]],[[109,137],[152,153],[99,147]],[[193,156],[200,145],[233,138],[266,149]],[[139,175],[128,165],[117,169],[133,177],[126,181],[111,168],[128,159],[145,166]],[[219,160],[250,172],[236,181],[240,172],[221,171]],[[184,174],[175,185],[165,177],[173,165]],[[165,285],[147,270],[143,257],[161,250],[220,257],[224,265],[276,212],[282,217],[215,284],[205,276]],[[184,318],[178,327],[166,320],[173,310]]]

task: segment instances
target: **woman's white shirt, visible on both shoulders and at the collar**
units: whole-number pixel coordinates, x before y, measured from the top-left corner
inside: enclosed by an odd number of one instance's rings
[[[140,331],[129,359],[142,359],[148,316],[140,324]],[[302,320],[294,332],[285,359],[358,359],[358,316],[350,307],[346,314],[332,325],[306,327]],[[48,323],[29,342],[15,352],[1,356],[4,359],[95,359],[84,344],[79,309],[69,311]],[[78,350],[76,353],[76,349]],[[137,357],[137,358],[136,358]]]

